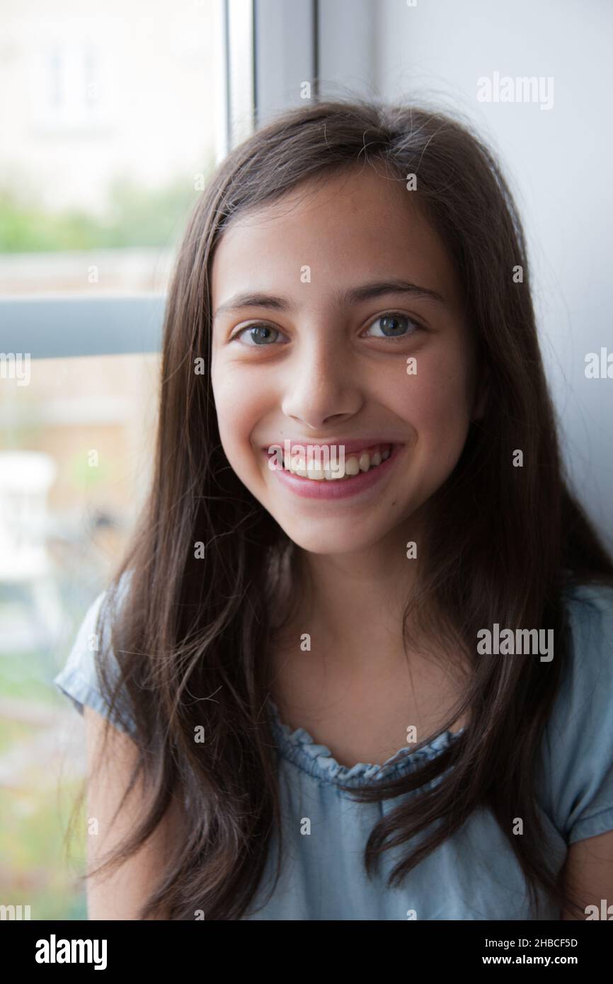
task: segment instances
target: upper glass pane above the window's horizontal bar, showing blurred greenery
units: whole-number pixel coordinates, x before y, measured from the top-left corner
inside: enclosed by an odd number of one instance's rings
[[[219,3],[0,10],[0,295],[162,293],[215,166]]]

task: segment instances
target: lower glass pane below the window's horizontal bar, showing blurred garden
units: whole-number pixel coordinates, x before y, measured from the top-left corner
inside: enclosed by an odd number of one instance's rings
[[[85,819],[74,864],[62,842],[83,725],[52,680],[148,489],[159,358],[32,359],[28,386],[0,387],[2,903],[30,905],[31,919],[87,917],[74,885]]]

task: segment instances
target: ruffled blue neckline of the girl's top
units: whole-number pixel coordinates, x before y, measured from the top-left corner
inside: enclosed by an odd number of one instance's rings
[[[423,765],[424,760],[435,759],[466,730],[463,727],[460,731],[442,731],[418,749],[400,748],[382,765],[358,762],[349,767],[341,766],[328,746],[319,745],[304,728],[292,731],[289,725],[284,724],[272,698],[269,698],[268,706],[271,709],[271,727],[283,758],[322,782],[348,786],[359,786],[371,779],[398,777],[416,769]]]

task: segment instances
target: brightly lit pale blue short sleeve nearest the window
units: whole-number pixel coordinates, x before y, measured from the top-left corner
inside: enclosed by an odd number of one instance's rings
[[[97,635],[97,619],[106,594],[106,591],[101,591],[92,601],[79,627],[64,668],[53,682],[59,691],[72,701],[80,714],[83,714],[84,705],[87,704],[102,716],[110,717],[119,730],[134,735],[136,728],[127,697],[124,694],[120,696],[117,702],[119,713],[115,710],[111,715],[102,696],[98,679],[98,658],[102,654],[107,675],[112,683],[119,673],[117,660],[109,645],[110,631],[106,620],[102,626],[101,637]]]

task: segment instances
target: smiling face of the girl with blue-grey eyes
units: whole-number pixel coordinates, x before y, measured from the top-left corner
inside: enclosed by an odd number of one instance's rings
[[[215,406],[238,477],[305,550],[397,542],[481,410],[460,282],[414,193],[353,167],[238,215],[212,291]],[[273,470],[269,451],[285,441],[337,445],[360,472]]]

